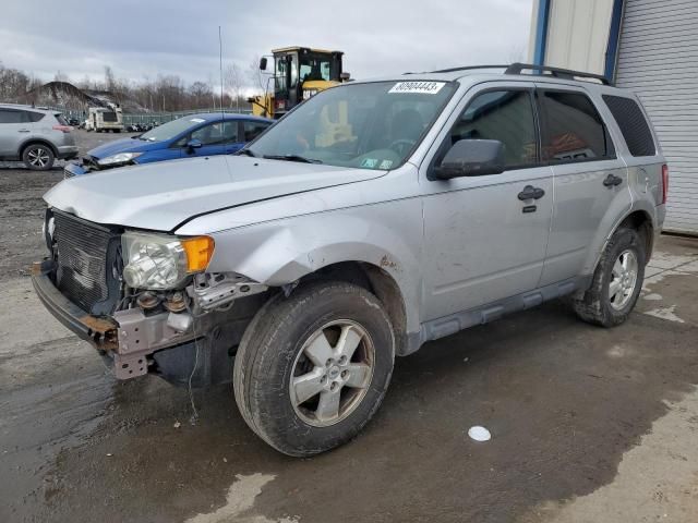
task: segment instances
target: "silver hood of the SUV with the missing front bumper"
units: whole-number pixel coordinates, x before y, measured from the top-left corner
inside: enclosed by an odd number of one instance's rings
[[[88,221],[172,231],[224,208],[372,180],[386,171],[213,156],[110,169],[63,180],[44,199]]]

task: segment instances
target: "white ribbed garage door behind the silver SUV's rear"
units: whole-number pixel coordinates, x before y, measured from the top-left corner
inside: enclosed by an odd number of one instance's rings
[[[664,229],[698,234],[698,1],[626,0],[616,84],[638,94],[669,160]]]

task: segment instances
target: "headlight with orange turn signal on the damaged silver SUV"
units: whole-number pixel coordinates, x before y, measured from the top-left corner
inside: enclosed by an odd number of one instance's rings
[[[167,290],[177,288],[190,275],[206,270],[214,254],[214,240],[125,232],[121,247],[123,280],[129,287]]]

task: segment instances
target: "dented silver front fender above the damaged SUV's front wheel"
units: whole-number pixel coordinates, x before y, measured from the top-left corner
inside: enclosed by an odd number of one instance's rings
[[[408,198],[221,231],[208,271],[281,287],[340,262],[371,264],[395,280],[407,331],[419,332],[421,217],[421,200]]]

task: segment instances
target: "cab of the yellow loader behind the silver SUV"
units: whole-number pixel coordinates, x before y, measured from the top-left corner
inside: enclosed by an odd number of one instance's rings
[[[272,53],[274,118],[282,117],[304,99],[348,78],[341,71],[341,51],[287,47],[274,49]]]

